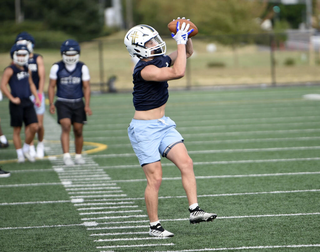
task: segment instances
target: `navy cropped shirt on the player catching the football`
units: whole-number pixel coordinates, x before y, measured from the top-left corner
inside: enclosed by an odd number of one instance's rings
[[[170,67],[171,58],[167,55],[156,56],[150,61],[140,60],[133,71],[133,105],[137,111],[155,109],[168,101],[167,81],[146,81],[141,77],[141,70],[147,65],[159,68]]]

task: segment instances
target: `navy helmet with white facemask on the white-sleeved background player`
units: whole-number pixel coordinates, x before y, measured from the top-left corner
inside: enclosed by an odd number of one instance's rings
[[[67,39],[61,44],[60,52],[65,64],[76,64],[80,57],[80,45],[73,39]]]

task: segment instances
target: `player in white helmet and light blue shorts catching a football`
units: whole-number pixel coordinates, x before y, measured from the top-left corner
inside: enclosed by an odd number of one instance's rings
[[[147,178],[145,201],[150,220],[150,236],[173,236],[173,233],[161,226],[158,218],[158,191],[162,180],[160,155],[171,160],[180,169],[189,203],[190,223],[212,221],[217,217],[216,214],[206,213],[199,208],[192,159],[188,156],[182,136],[175,129],[174,121],[164,116],[169,97],[167,81],[184,76],[187,58],[193,53],[192,41],[188,39],[188,34],[193,29],[188,31],[188,28],[189,25],[183,22],[179,29],[178,23],[177,33],[172,34],[178,48],[169,55],[165,55],[165,42],[150,26],[135,26],[124,38],[129,54],[140,57],[133,72],[135,113],[128,135]]]

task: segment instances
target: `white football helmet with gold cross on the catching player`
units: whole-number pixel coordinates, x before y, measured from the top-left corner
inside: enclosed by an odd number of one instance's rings
[[[145,43],[152,40],[156,46],[146,47]],[[150,58],[165,54],[165,42],[159,33],[148,25],[137,25],[132,27],[124,37],[124,44],[131,57]]]

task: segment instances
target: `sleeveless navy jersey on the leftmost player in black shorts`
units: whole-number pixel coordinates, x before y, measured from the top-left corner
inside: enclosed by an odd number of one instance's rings
[[[28,98],[31,95],[28,67],[23,66],[24,70],[13,64],[8,67],[13,70],[13,74],[9,80],[12,96],[19,97],[20,99]]]

